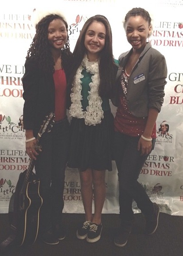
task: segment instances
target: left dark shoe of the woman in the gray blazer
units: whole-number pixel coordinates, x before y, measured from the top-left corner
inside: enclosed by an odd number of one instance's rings
[[[127,244],[128,237],[132,232],[134,221],[121,221],[117,235],[114,237],[114,244],[118,247],[124,247]]]

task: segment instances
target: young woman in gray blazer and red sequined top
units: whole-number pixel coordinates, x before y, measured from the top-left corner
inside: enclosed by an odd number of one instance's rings
[[[132,8],[124,28],[132,49],[120,55],[116,78],[117,106],[114,119],[114,158],[119,176],[121,227],[114,244],[123,247],[132,230],[132,201],[144,214],[147,234],[158,226],[160,208],[152,203],[137,181],[140,170],[156,141],[156,118],[164,102],[167,65],[164,56],[153,49],[148,37],[152,33],[151,17],[143,8]]]

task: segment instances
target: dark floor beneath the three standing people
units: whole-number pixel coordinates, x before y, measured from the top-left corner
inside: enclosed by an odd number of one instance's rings
[[[8,256],[183,256],[183,217],[160,213],[157,231],[144,235],[144,218],[135,214],[135,225],[124,248],[113,244],[113,236],[119,225],[117,214],[103,214],[101,239],[90,244],[78,240],[78,222],[84,220],[83,214],[64,213],[67,236],[57,245],[43,244],[37,240],[28,248],[14,248]],[[0,241],[8,236],[8,214],[0,214]]]

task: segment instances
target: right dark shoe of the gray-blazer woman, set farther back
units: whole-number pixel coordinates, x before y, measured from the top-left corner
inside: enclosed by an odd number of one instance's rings
[[[153,203],[153,205],[154,205],[153,215],[145,216],[145,219],[146,219],[145,233],[148,235],[152,235],[158,227],[158,218],[159,218],[159,214],[160,214],[160,207],[156,203]]]

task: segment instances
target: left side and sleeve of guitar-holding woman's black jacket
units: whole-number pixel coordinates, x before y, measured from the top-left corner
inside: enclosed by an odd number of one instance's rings
[[[38,131],[50,112],[55,111],[55,85],[51,72],[41,71],[35,59],[25,62],[23,83],[23,127]]]

